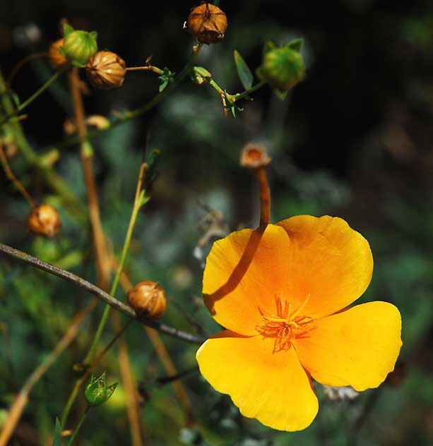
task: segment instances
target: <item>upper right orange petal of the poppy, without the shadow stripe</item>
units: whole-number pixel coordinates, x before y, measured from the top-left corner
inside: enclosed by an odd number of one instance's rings
[[[290,238],[286,291],[292,308],[308,297],[302,313],[321,318],[350,305],[367,289],[372,251],[343,219],[299,215],[278,225]]]

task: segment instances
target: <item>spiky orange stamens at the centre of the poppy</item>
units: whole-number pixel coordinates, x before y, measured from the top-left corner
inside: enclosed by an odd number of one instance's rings
[[[309,326],[309,324],[311,324],[314,319],[310,316],[301,314],[309,301],[309,296],[310,295],[304,299],[301,306],[299,306],[294,313],[290,312],[290,302],[287,303],[287,300],[283,302],[281,297],[276,294],[276,315],[266,313],[266,311],[263,311],[262,308],[259,307],[259,312],[263,318],[263,325],[256,325],[256,330],[263,336],[263,338],[275,338],[272,353],[290,349],[292,339],[304,337],[307,332],[312,330],[312,327]]]

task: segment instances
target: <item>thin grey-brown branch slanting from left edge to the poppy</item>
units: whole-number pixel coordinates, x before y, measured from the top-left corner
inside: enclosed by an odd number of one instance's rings
[[[3,243],[0,243],[0,252],[5,253],[6,255],[12,258],[16,258],[17,260],[21,260],[24,263],[28,263],[28,265],[37,267],[42,271],[49,272],[54,276],[69,280],[69,282],[73,282],[78,287],[81,287],[86,291],[89,291],[91,294],[94,294],[101,301],[108,303],[108,305],[112,306],[112,308],[114,308],[115,310],[124,313],[129,318],[138,320],[138,322],[142,323],[143,325],[146,325],[147,327],[155,328],[155,330],[165,333],[165,335],[175,337],[184,342],[189,342],[191,344],[198,344],[198,345],[203,344],[203,342],[206,340],[203,339],[202,337],[193,335],[192,333],[183,332],[182,330],[177,330],[177,328],[171,327],[170,325],[166,325],[164,323],[157,322],[155,320],[139,318],[136,315],[136,312],[134,311],[133,308],[131,308],[130,306],[126,305],[121,301],[118,301],[115,297],[110,296],[105,291],[102,291],[102,289],[96,287],[96,285],[91,284],[87,280],[73,274],[72,272],[62,270],[61,268],[54,266],[51,263],[44,262],[36,257],[33,257],[30,254],[23,253],[23,251],[18,251],[18,249],[11,248],[11,246],[7,246],[4,245]]]

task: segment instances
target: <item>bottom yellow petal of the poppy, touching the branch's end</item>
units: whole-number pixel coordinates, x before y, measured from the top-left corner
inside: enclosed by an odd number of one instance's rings
[[[302,430],[319,404],[295,349],[272,354],[273,339],[220,332],[197,351],[201,374],[242,415],[274,429]]]

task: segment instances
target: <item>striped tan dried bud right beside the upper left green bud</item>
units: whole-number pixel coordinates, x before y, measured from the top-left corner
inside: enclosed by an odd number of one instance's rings
[[[90,58],[85,71],[93,86],[110,90],[119,88],[124,83],[126,64],[117,54],[100,51]]]

